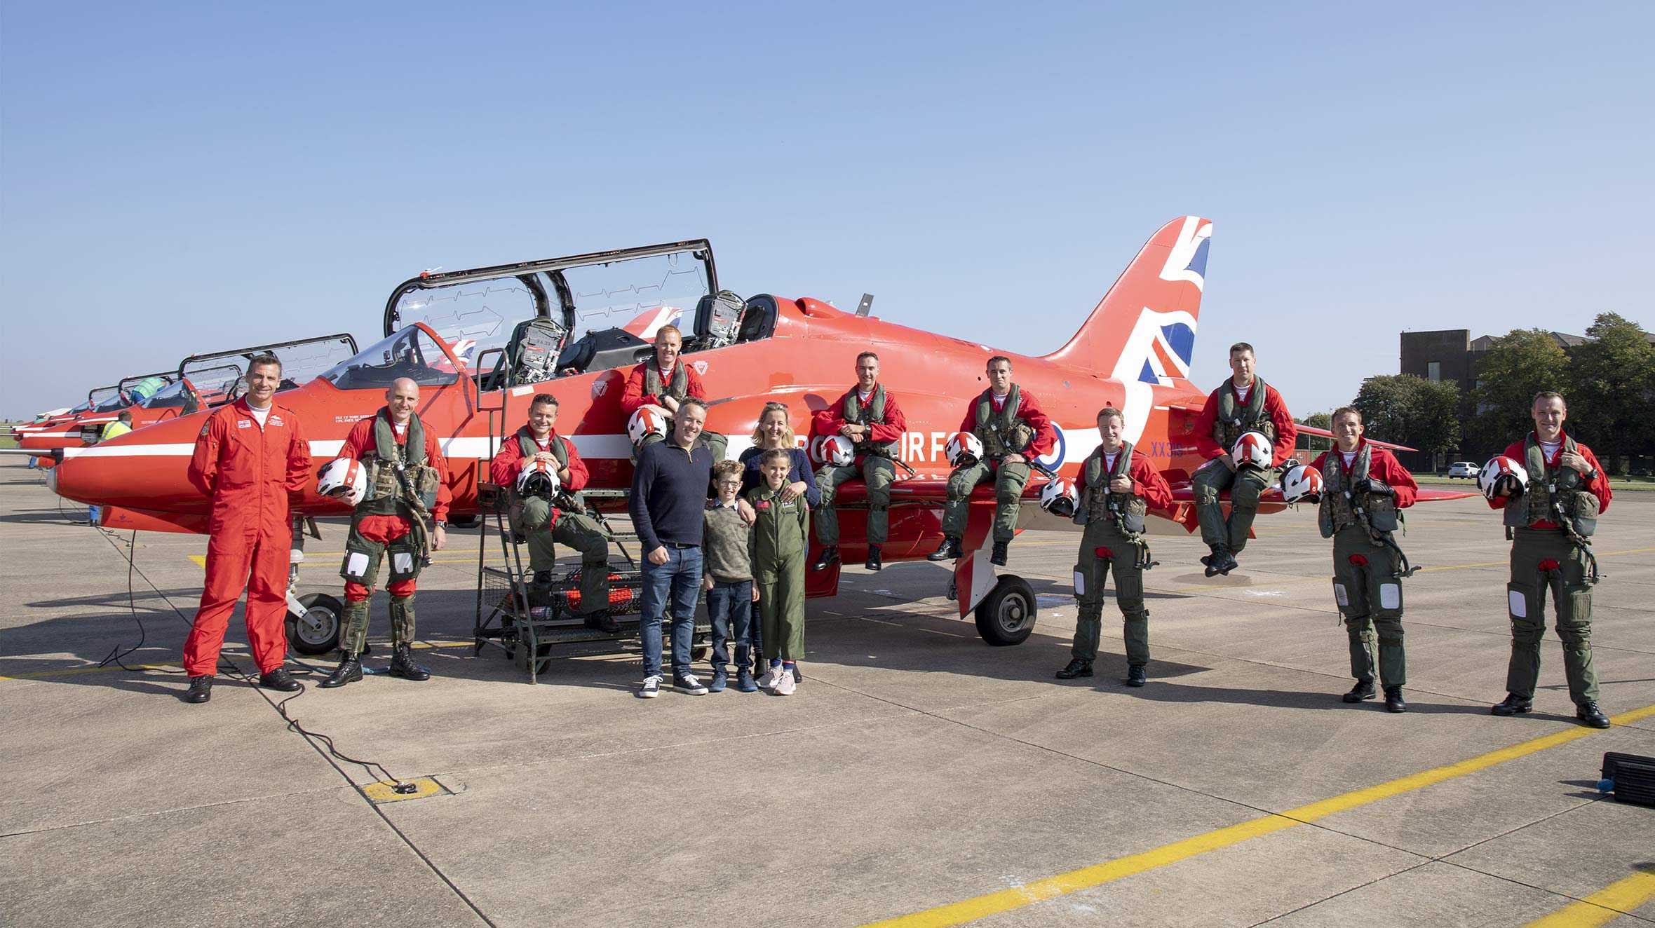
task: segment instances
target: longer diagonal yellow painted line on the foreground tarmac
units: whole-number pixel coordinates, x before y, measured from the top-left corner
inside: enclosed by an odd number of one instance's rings
[[[1655,716],[1655,705],[1617,715],[1614,716],[1612,721],[1615,725],[1629,725],[1648,716]],[[1579,741],[1581,738],[1589,738],[1597,731],[1599,729],[1595,728],[1569,728],[1564,731],[1556,731],[1552,734],[1534,738],[1521,744],[1513,744],[1511,748],[1501,748],[1498,751],[1478,754],[1476,758],[1468,758],[1455,764],[1432,768],[1428,771],[1420,771],[1417,774],[1408,774],[1405,777],[1398,777],[1389,782],[1369,786],[1367,789],[1355,789],[1352,792],[1334,796],[1332,799],[1322,799],[1321,802],[1311,802],[1309,806],[1288,809],[1286,812],[1276,812],[1258,819],[1248,819],[1235,825],[1216,829],[1195,837],[1187,837],[1183,840],[1177,840],[1172,844],[1163,844],[1160,847],[1140,854],[1117,857],[1115,860],[1106,860],[1102,863],[1094,863],[1091,867],[1081,867],[1079,870],[1069,870],[1067,873],[1058,873],[1056,877],[1046,877],[1043,880],[1034,880],[1031,883],[1013,887],[1010,890],[1000,890],[973,897],[963,902],[938,905],[935,908],[927,908],[923,911],[915,911],[912,915],[899,915],[895,918],[887,918],[884,921],[872,921],[871,925],[902,926],[902,928],[965,925],[967,921],[976,921],[978,918],[986,918],[990,915],[998,915],[1001,911],[1011,911],[1015,908],[1023,908],[1036,902],[1044,902],[1079,890],[1087,890],[1092,887],[1101,887],[1104,883],[1112,883],[1115,880],[1122,880],[1135,873],[1144,873],[1145,870],[1154,870],[1157,867],[1165,867],[1168,863],[1188,860],[1190,857],[1197,857],[1210,850],[1218,850],[1223,847],[1241,844],[1254,837],[1314,822],[1317,819],[1326,819],[1327,816],[1332,816],[1336,812],[1357,809],[1370,802],[1379,802],[1380,799],[1390,799],[1392,796],[1400,796],[1403,792],[1412,792],[1415,789],[1433,786],[1448,779],[1485,771],[1496,764],[1514,761],[1518,758],[1526,758],[1529,754],[1544,751],[1547,748],[1556,748],[1559,744]],[[1604,892],[1607,892],[1607,888]]]

